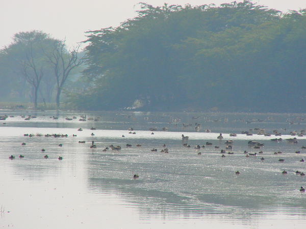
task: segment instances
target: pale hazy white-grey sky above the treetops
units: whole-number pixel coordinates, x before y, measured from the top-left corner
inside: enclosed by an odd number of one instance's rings
[[[18,32],[41,30],[68,45],[86,39],[84,32],[118,26],[133,18],[135,5],[145,2],[154,6],[168,4],[203,5],[232,0],[0,0],[0,48],[9,45]],[[237,0],[237,2],[242,2]],[[286,12],[306,8],[305,0],[254,0],[254,3]]]

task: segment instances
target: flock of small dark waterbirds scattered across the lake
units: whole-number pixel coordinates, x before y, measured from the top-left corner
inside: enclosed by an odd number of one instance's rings
[[[0,120],[6,120],[6,118],[8,118],[9,116],[0,116]],[[11,117],[13,117],[13,116],[11,116]],[[34,118],[36,118],[35,116],[28,116],[28,117],[24,117],[23,116],[23,118],[24,118],[24,120],[30,120],[30,119],[34,119]],[[54,119],[54,120],[56,120],[56,119],[58,119],[58,117],[50,117],[50,118],[52,118],[52,119]],[[66,118],[66,120],[68,120],[68,121],[70,121],[70,120],[73,120],[73,119],[77,119],[77,117],[75,117],[75,116],[73,116],[72,118]],[[197,119],[197,118],[193,118],[193,119]],[[86,120],[94,120],[94,121],[98,121],[98,118],[95,118],[95,119],[93,119],[93,118],[86,118],[86,116],[81,116],[81,118],[79,119],[79,121],[86,121]],[[6,123],[3,123],[3,124],[6,124]],[[191,124],[183,124],[183,126],[184,127],[188,127],[188,126],[191,126]],[[91,127],[90,128],[90,130],[95,130],[95,128],[94,127]],[[154,132],[153,131],[156,131],[157,130],[157,128],[150,128],[149,129],[150,131],[152,131],[151,132],[151,134],[154,134]],[[168,130],[168,128],[167,127],[163,127],[163,131],[167,131]],[[195,124],[195,130],[196,131],[199,131],[200,130],[200,124]],[[250,129],[250,131],[257,131],[257,134],[258,135],[264,135],[264,136],[271,136],[271,134],[270,133],[266,133],[266,131],[265,131],[265,129],[260,129],[260,128],[254,128],[254,129]],[[285,129],[286,130],[286,129]],[[83,129],[82,128],[79,128],[78,129],[78,131],[83,131]],[[136,134],[136,132],[134,131],[134,128],[129,128],[129,134]],[[206,129],[204,132],[206,132],[206,133],[210,133],[211,132],[211,130],[209,130],[209,129]],[[249,131],[242,131],[242,134],[246,134],[247,136],[251,136],[253,133],[251,133],[251,132],[249,132]],[[273,130],[273,134],[275,135],[275,136],[282,136],[282,133],[280,133],[280,132],[278,132],[277,130]],[[95,136],[95,134],[92,132],[91,134],[90,134],[91,136]],[[304,136],[304,135],[306,135],[306,131],[305,130],[301,130],[300,132],[298,132],[298,131],[291,131],[290,132],[290,135],[292,135],[292,136]],[[24,136],[29,136],[29,137],[33,137],[33,136],[43,136],[42,134],[36,134],[36,135],[34,135],[34,134],[24,134]],[[67,134],[45,134],[44,135],[45,137],[68,137],[68,135]],[[74,136],[77,136],[76,134],[73,134],[72,135],[73,137]],[[237,136],[237,134],[236,133],[231,133],[230,134],[230,136],[233,136],[233,137],[235,137],[235,136]],[[122,135],[121,137],[125,137],[124,135]],[[220,133],[218,136],[217,136],[217,139],[219,139],[219,140],[222,140],[223,139],[223,135],[222,135],[222,133]],[[184,147],[187,147],[187,148],[190,148],[191,146],[190,145],[188,145],[188,140],[189,140],[189,137],[188,136],[185,136],[184,134],[182,134],[182,141],[183,141],[183,146]],[[275,141],[275,142],[279,142],[279,141],[283,141],[283,139],[282,138],[271,138],[271,141]],[[297,143],[298,142],[298,140],[297,140],[297,138],[296,137],[293,137],[293,138],[288,138],[288,139],[286,139],[286,141],[288,141],[288,142],[290,142],[290,143],[293,143],[293,144],[295,144],[295,143]],[[79,143],[85,143],[85,141],[79,141]],[[226,140],[225,142],[224,142],[224,144],[225,144],[225,150],[232,150],[233,149],[233,144],[234,144],[234,140]],[[22,144],[21,144],[22,146],[25,146],[26,144],[25,144],[25,142],[22,142]],[[213,144],[211,143],[211,142],[206,142],[206,145],[203,145],[203,146],[199,146],[199,145],[197,145],[197,146],[195,146],[194,147],[194,149],[196,149],[196,150],[199,150],[199,149],[201,149],[201,148],[205,148],[205,147],[207,147],[207,146],[212,146]],[[59,147],[62,147],[62,144],[59,144],[58,145]],[[140,144],[138,144],[138,145],[136,145],[137,147],[141,147],[141,145]],[[258,142],[258,141],[253,141],[253,140],[249,140],[248,141],[248,147],[251,147],[251,148],[253,148],[253,149],[261,149],[262,147],[264,146],[264,144],[263,143],[261,143],[261,142]],[[126,144],[126,147],[132,147],[132,145],[131,144]],[[94,144],[94,141],[92,141],[91,142],[91,146],[90,146],[90,148],[97,148],[97,146]],[[219,146],[215,146],[215,149],[218,149],[218,148],[220,148]],[[109,149],[111,149],[111,150],[114,150],[114,151],[119,151],[119,150],[121,150],[121,147],[120,146],[113,146],[113,145],[110,145],[109,147],[106,147],[106,148],[104,148],[103,149],[103,151],[107,151],[107,150],[109,150]],[[306,147],[305,146],[302,146],[302,148],[301,149],[306,149]],[[226,153],[226,151],[225,150],[221,150],[220,152],[221,152],[221,157],[222,158],[224,158],[225,157],[225,153]],[[44,152],[45,150],[44,149],[41,149],[41,152]],[[158,150],[157,149],[151,149],[151,152],[157,152]],[[168,153],[169,152],[169,150],[166,148],[166,145],[164,144],[163,145],[163,149],[161,150],[161,152],[164,152],[164,153]],[[296,151],[295,152],[296,154],[299,154],[300,153],[300,151]],[[201,154],[200,152],[198,152],[198,154]],[[231,154],[234,154],[234,152],[227,152],[227,154],[229,154],[229,155],[231,155]],[[263,154],[263,151],[259,151],[259,153],[257,154],[257,153],[248,153],[247,151],[244,151],[244,154],[246,155],[246,157],[250,157],[250,156],[257,156],[258,154]],[[282,154],[282,152],[281,151],[278,151],[278,152],[274,152],[274,154],[276,154],[276,155],[279,155],[279,154]],[[49,156],[46,154],[46,155],[44,155],[44,158],[45,159],[47,159]],[[19,158],[24,158],[24,155],[19,155]],[[9,159],[11,159],[11,160],[13,160],[13,159],[15,159],[15,156],[14,155],[11,155],[10,157],[9,157]],[[63,157],[62,156],[59,156],[58,157],[58,160],[62,160],[63,159]],[[265,158],[264,157],[261,157],[261,160],[265,160]],[[278,161],[280,161],[280,162],[284,162],[284,160],[285,159],[278,159]],[[304,162],[304,159],[302,158],[301,160],[300,160],[300,162]],[[240,175],[240,171],[239,170],[237,170],[237,171],[235,171],[235,174],[236,175]],[[286,170],[283,170],[282,171],[282,174],[287,174],[287,171]],[[299,174],[300,176],[304,176],[305,174],[303,173],[303,172],[301,172],[301,171],[296,171],[296,174]],[[137,174],[135,174],[134,176],[133,176],[133,178],[134,179],[138,179],[139,178],[139,175],[137,175]],[[302,186],[299,188],[299,191],[300,192],[305,192],[305,188],[303,188]]]

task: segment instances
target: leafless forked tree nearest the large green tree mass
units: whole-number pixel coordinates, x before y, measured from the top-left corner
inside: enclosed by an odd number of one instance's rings
[[[71,70],[82,65],[84,62],[84,59],[79,58],[78,56],[79,48],[80,45],[77,45],[67,50],[65,40],[63,40],[60,42],[54,42],[53,50],[44,52],[47,60],[53,65],[54,68],[57,85],[57,107],[60,106],[61,92]]]

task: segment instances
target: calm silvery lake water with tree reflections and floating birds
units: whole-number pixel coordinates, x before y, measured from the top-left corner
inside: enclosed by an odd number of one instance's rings
[[[301,149],[306,137],[290,135],[306,129],[306,115],[0,112],[13,116],[0,121],[1,228],[306,226],[306,193],[299,191],[306,186],[306,176],[295,173],[306,173],[306,162],[300,162],[306,160],[306,150]],[[37,117],[24,120],[21,115]],[[79,121],[81,115],[87,121]],[[73,116],[77,119],[66,120]],[[195,123],[200,124],[197,130]],[[136,134],[129,133],[131,127]],[[264,128],[271,136],[258,135],[256,128]],[[282,136],[274,136],[273,130]],[[34,136],[23,136],[27,133]],[[222,140],[217,139],[220,133]],[[189,139],[183,140],[182,134]],[[293,137],[297,143],[286,140]],[[222,158],[226,140],[234,140],[233,149]],[[248,146],[249,140],[264,146],[254,149]],[[92,141],[96,148],[90,148]],[[194,149],[208,141],[212,146]],[[191,147],[184,147],[185,143]],[[110,145],[121,150],[103,151]],[[164,148],[168,153],[161,152]],[[258,155],[246,157],[244,151]],[[15,159],[9,159],[10,155]],[[240,175],[235,174],[237,170]],[[283,170],[288,173],[282,174]],[[139,178],[133,179],[134,174]]]

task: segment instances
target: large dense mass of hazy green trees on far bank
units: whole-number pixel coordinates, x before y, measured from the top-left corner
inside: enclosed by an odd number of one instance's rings
[[[184,7],[140,4],[118,27],[87,33],[83,109],[211,108],[306,111],[306,11],[251,1]]]

